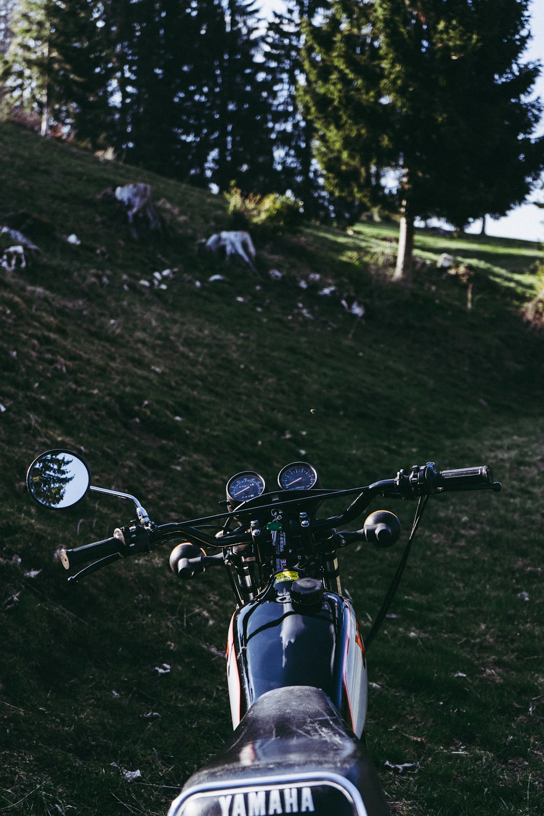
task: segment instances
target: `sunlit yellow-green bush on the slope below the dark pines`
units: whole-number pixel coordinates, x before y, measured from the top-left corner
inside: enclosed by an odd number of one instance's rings
[[[259,232],[294,233],[302,223],[302,202],[294,196],[268,193],[243,196],[236,184],[224,194],[234,229],[257,228]]]

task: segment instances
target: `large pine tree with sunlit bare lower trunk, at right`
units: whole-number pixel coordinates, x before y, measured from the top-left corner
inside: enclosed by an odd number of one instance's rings
[[[542,105],[527,101],[539,66],[521,62],[527,9],[528,0],[331,0],[307,30],[304,102],[327,184],[400,211],[397,277],[409,273],[416,216],[462,225],[502,213],[542,170],[543,140],[531,138]]]

